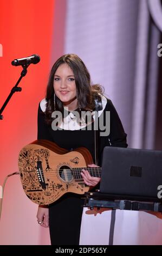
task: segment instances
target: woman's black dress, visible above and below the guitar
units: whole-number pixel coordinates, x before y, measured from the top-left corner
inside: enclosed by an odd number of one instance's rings
[[[103,148],[107,145],[113,147],[127,147],[126,133],[122,127],[118,113],[111,100],[107,100],[103,115],[103,123],[106,124],[105,113],[110,111],[110,133],[108,136],[99,136],[99,165]],[[39,105],[38,108],[38,135],[37,139],[47,139],[55,142],[61,148],[68,150],[78,147],[87,148],[95,159],[94,129],[92,130],[56,130],[51,129],[44,120],[45,115]],[[95,162],[95,161],[94,161]],[[80,226],[82,217],[82,195],[67,193],[55,203],[49,205],[49,229],[51,245],[79,245]]]

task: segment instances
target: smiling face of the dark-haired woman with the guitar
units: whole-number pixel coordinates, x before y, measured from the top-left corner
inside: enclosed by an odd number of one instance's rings
[[[61,64],[54,75],[54,90],[56,96],[69,105],[76,99],[76,84],[74,73],[67,64]]]

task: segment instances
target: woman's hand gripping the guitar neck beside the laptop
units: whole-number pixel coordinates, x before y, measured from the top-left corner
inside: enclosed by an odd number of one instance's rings
[[[99,167],[99,166],[96,166],[94,163],[93,164],[88,164],[88,167]],[[82,169],[82,172],[81,172],[81,175],[83,177],[83,180],[85,182],[86,185],[88,186],[96,186],[101,178],[98,178],[98,177],[93,177],[93,176],[90,176],[88,170],[85,170],[85,169]]]

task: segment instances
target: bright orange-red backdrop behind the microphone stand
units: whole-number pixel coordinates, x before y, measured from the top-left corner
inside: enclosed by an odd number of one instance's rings
[[[22,71],[21,66],[12,66],[11,61],[34,53],[41,57],[40,63],[29,66],[20,82],[22,92],[12,96],[3,112],[4,119],[0,121],[1,178],[11,172],[13,166],[16,168],[18,148],[36,138],[37,105],[44,96],[49,74],[53,14],[54,0],[1,0],[0,107]]]

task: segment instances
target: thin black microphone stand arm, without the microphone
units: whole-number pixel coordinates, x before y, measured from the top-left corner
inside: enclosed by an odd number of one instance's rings
[[[11,92],[10,92],[9,96],[7,97],[7,99],[5,100],[5,102],[4,102],[3,106],[2,106],[2,108],[0,109],[0,120],[3,119],[2,112],[4,111],[4,108],[7,106],[7,104],[8,104],[8,102],[9,102],[9,100],[11,99],[12,95],[13,95],[14,93],[16,93],[16,92],[21,92],[22,88],[21,88],[21,87],[17,87],[17,86],[18,86],[18,84],[20,83],[20,81],[22,80],[22,78],[27,74],[27,68],[28,68],[29,65],[30,65],[30,63],[28,62],[28,60],[27,60],[27,63],[26,63],[26,64],[22,65],[23,70],[22,70],[22,72],[21,72],[21,76],[20,76],[20,78],[18,79],[18,81],[17,81],[17,83],[15,84],[15,86],[11,89]]]

